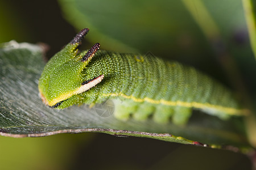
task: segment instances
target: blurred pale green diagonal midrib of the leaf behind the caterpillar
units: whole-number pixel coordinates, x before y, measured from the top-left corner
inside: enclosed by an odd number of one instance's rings
[[[246,86],[243,83],[240,70],[238,69],[236,61],[234,61],[232,55],[226,48],[225,42],[221,36],[220,28],[218,28],[217,23],[214,21],[212,15],[210,15],[207,7],[205,7],[203,1],[201,0],[182,0],[182,2],[184,3],[184,6],[187,7],[193,19],[199,25],[201,31],[212,45],[212,48],[216,53],[215,56],[221,63],[221,66],[224,68],[226,75],[229,78],[230,84],[232,84],[233,88],[239,92],[240,97],[244,101],[243,104],[248,105],[248,103],[250,103],[250,97],[246,90]]]

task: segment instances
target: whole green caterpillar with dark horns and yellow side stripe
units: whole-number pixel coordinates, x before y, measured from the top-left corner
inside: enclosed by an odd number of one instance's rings
[[[227,88],[193,67],[98,50],[99,43],[78,53],[77,47],[88,31],[85,28],[77,33],[44,67],[39,92],[49,107],[63,109],[119,98],[123,102],[116,102],[114,112],[119,119],[132,115],[145,120],[154,113],[156,122],[171,118],[175,124],[185,124],[192,109],[222,119],[244,114]]]

